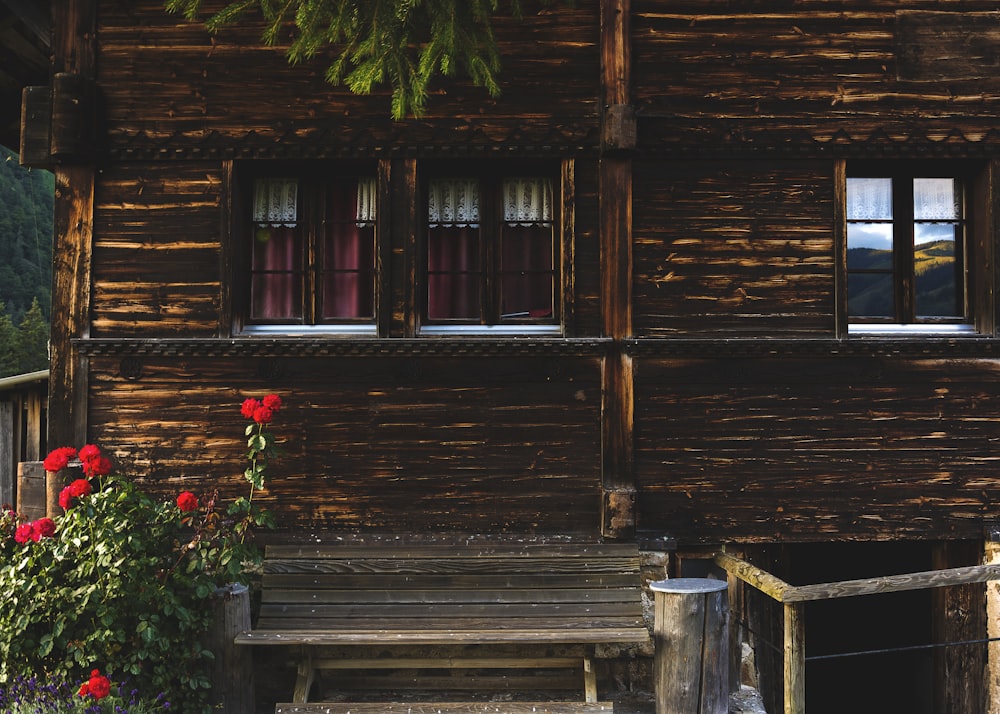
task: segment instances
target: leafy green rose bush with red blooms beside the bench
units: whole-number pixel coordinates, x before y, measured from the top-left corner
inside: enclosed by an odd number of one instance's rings
[[[281,401],[251,401],[259,408],[247,417],[250,494],[228,506],[217,492],[153,499],[113,475],[91,444],[48,455],[46,469],[78,459],[84,478],[62,490],[65,512],[55,519],[26,522],[0,512],[0,592],[7,597],[0,608],[0,687],[42,673],[70,681],[100,663],[138,691],[163,692],[180,711],[210,710],[209,598],[219,586],[248,581],[260,561],[248,536],[272,526],[253,494],[275,453],[265,425]],[[110,680],[99,671],[80,690],[94,705],[105,692]]]

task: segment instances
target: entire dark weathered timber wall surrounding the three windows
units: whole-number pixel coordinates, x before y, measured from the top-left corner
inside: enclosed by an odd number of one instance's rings
[[[236,493],[238,404],[277,392],[267,498],[311,528],[942,539],[997,515],[995,320],[862,341],[838,307],[843,160],[1000,155],[989,3],[530,6],[498,22],[500,97],[442,82],[400,122],[384,93],[327,85],[325,58],[290,70],[259,27],[96,4],[83,49],[56,43],[102,121],[98,158],[59,174],[58,441]],[[59,37],[86,25],[56,17]],[[572,174],[565,334],[422,338],[421,162],[501,157]],[[234,171],[343,158],[391,186],[380,336],[234,333]],[[992,244],[998,191],[977,190]],[[998,285],[975,286],[982,314]]]

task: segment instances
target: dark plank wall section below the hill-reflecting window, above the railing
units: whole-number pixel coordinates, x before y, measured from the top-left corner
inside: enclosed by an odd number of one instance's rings
[[[643,528],[706,541],[978,538],[996,360],[691,356],[637,377]]]

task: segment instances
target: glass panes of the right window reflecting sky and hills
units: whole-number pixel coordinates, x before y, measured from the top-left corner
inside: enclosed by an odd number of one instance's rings
[[[953,178],[912,181],[912,207],[904,202],[909,215],[894,216],[893,179],[847,179],[847,304],[852,318],[908,322],[962,316],[955,251],[962,220],[957,183]],[[894,246],[908,253],[894,256]],[[910,283],[906,275],[911,269],[914,314],[898,315],[895,292]]]

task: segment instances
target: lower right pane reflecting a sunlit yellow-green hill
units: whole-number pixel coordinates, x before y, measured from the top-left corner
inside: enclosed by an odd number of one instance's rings
[[[913,268],[918,317],[960,317],[955,258],[956,226],[914,226]]]

